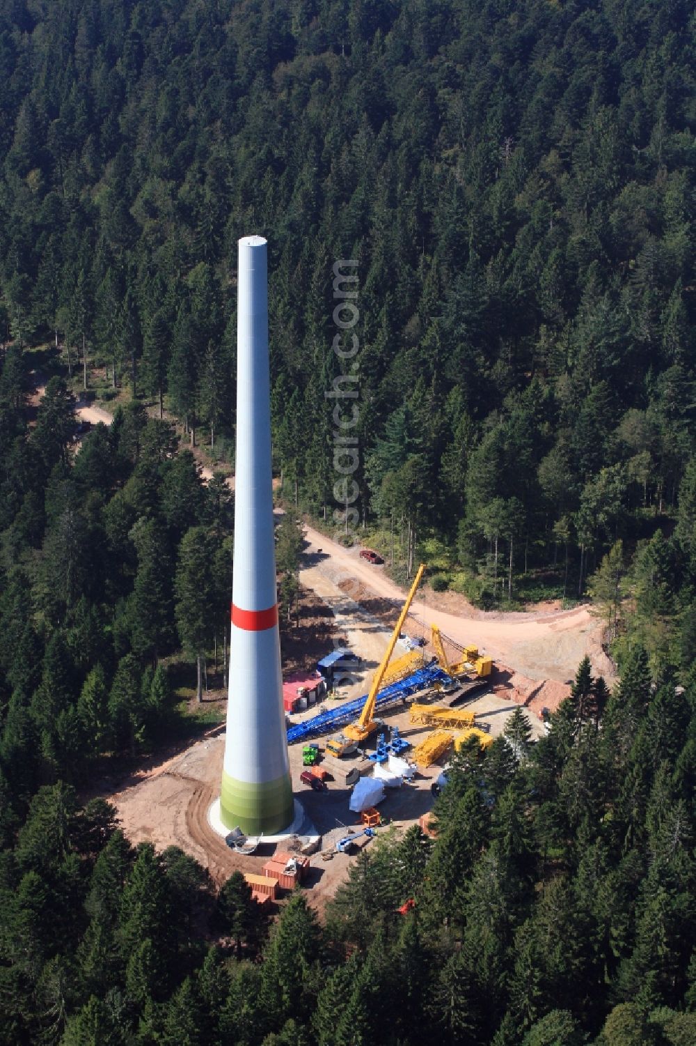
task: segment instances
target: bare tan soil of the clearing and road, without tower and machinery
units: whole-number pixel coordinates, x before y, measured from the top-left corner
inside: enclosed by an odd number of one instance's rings
[[[317,536],[319,543],[315,544],[311,535],[307,537],[300,581],[304,590],[312,594],[303,596],[300,628],[284,639],[285,670],[311,667],[317,657],[330,649],[332,640],[347,643],[364,658],[362,675],[345,691],[346,698],[356,697],[366,692],[370,673],[384,655],[403,594],[384,572],[373,573],[374,568],[364,566],[356,555],[334,554],[333,543],[328,545],[326,539]],[[505,617],[481,621],[424,604],[415,610],[416,615],[407,629],[412,636],[417,636],[419,630],[427,635],[430,622],[435,620],[462,645],[478,642],[480,649],[493,656],[496,670],[491,679],[491,692],[466,705],[488,723],[493,735],[502,732],[507,718],[523,704],[528,706],[533,735],[540,736],[543,732],[537,718],[540,708],[554,708],[565,697],[567,680],[573,678],[585,652],[590,653],[597,669],[600,629],[584,608],[547,615],[520,613],[514,615],[513,621]],[[486,642],[482,641],[484,638]],[[505,653],[504,659],[498,650]],[[526,672],[529,666],[532,670]],[[556,678],[550,677],[549,666]],[[314,712],[315,709],[309,709],[298,718]],[[418,744],[428,732],[427,728],[411,725],[405,708],[388,711],[386,718],[390,725],[398,725],[413,744]],[[219,730],[212,731],[188,749],[161,764],[153,763],[101,793],[116,805],[132,841],[147,839],[158,848],[177,844],[207,867],[218,884],[234,868],[260,872],[275,848],[266,844],[253,856],[233,854],[210,827],[207,815],[218,792],[223,754],[224,737]],[[301,746],[292,746],[296,795],[318,833],[329,836],[344,826],[357,826],[356,815],[348,810],[349,790],[338,782],[330,782],[324,793],[305,789],[299,779],[301,760]],[[439,772],[440,767],[431,767],[414,784],[388,791],[379,808],[382,816],[403,828],[416,823],[432,806],[431,784]],[[320,854],[311,858],[307,891],[314,907],[324,909],[346,878],[352,860],[354,856],[338,854],[328,861],[322,860]]]

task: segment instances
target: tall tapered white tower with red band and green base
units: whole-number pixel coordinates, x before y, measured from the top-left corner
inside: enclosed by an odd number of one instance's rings
[[[221,819],[247,835],[293,821],[282,704],[271,473],[266,242],[239,241],[230,687]]]

